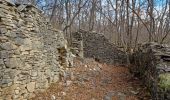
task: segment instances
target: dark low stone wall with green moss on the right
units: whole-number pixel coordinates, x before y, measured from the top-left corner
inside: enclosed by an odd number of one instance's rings
[[[170,99],[170,46],[158,43],[141,45],[131,59],[131,71],[143,78],[153,100]]]

